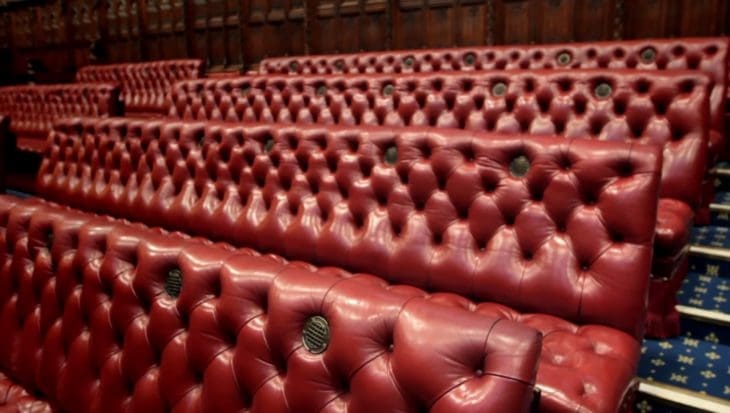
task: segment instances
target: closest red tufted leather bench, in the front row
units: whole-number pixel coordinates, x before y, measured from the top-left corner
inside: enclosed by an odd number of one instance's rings
[[[0,410],[527,412],[490,305],[0,196]],[[377,314],[377,317],[373,317]]]

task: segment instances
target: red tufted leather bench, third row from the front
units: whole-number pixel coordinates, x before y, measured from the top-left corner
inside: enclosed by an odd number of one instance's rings
[[[648,333],[679,333],[693,211],[703,214],[707,96],[696,72],[492,71],[259,76],[182,82],[169,115],[183,119],[437,126],[562,134],[664,147]],[[599,95],[605,93],[605,96]]]

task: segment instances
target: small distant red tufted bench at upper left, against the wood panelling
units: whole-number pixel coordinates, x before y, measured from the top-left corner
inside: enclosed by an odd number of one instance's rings
[[[165,96],[172,85],[180,80],[197,79],[203,70],[203,61],[199,59],[92,65],[79,69],[76,81],[118,84],[125,113],[158,116],[165,113]]]

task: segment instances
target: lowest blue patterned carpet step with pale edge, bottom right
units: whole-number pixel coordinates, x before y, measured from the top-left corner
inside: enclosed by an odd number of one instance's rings
[[[714,341],[688,336],[645,339],[639,362],[640,391],[684,406],[704,408],[697,404],[700,400],[714,408],[718,405],[712,403],[720,403],[725,410],[708,411],[730,411],[730,346]],[[692,404],[686,404],[689,396],[693,396]]]

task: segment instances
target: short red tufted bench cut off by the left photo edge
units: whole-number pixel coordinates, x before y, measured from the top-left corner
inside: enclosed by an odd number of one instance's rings
[[[57,119],[118,114],[119,90],[109,84],[0,88],[0,115],[10,118],[10,130],[21,150],[42,152]]]

